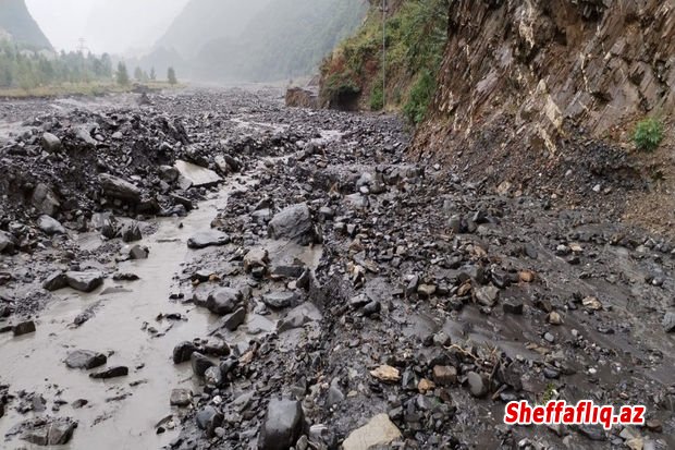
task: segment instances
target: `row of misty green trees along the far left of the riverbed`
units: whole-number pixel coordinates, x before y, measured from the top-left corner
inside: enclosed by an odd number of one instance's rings
[[[0,88],[34,89],[63,83],[77,84],[110,80],[108,54],[97,58],[79,52],[54,53],[30,50],[10,40],[0,40]]]

